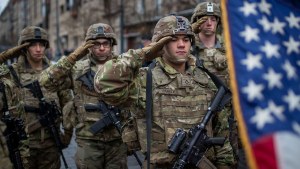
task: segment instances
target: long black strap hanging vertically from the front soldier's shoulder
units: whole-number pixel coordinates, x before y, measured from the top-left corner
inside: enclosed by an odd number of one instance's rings
[[[150,169],[150,154],[151,154],[151,129],[152,129],[152,69],[155,62],[149,65],[146,80],[146,125],[147,125],[147,169]]]

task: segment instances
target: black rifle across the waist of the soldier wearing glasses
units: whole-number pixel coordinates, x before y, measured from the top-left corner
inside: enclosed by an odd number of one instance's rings
[[[103,118],[95,122],[90,127],[91,133],[97,134],[100,131],[102,131],[105,127],[114,125],[118,130],[119,134],[122,134],[120,110],[117,107],[108,105],[103,101],[99,101],[98,104],[85,104],[84,108],[87,112],[100,111],[101,113],[103,113]],[[133,155],[136,158],[136,161],[139,163],[139,165],[142,166],[142,162],[138,158],[136,152],[133,152]]]

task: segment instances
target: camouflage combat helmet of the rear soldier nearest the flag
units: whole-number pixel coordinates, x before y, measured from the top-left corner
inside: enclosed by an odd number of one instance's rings
[[[202,2],[198,4],[194,10],[194,14],[191,18],[191,23],[196,22],[199,18],[206,15],[221,17],[221,10],[219,5],[213,2]]]

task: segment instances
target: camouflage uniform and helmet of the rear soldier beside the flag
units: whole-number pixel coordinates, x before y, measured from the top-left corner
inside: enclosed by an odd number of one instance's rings
[[[215,3],[209,2],[200,3],[194,10],[191,22],[195,23],[198,19],[209,15],[216,16],[217,20],[219,21],[221,17],[221,11],[219,6]],[[220,21],[218,25],[220,25]],[[224,44],[222,43],[220,38],[217,38],[217,36],[215,36],[215,38],[215,46],[212,48],[207,48],[201,42],[199,36],[196,35],[196,44],[193,50],[195,52],[195,55],[200,57],[200,59],[203,61],[204,67],[207,68],[213,74],[217,75],[223,82],[225,82],[225,84],[227,84],[227,86],[229,86],[229,73]],[[237,132],[236,129],[233,129],[236,126],[236,122],[234,121],[231,114],[232,107],[231,105],[228,105],[218,114],[218,117],[214,121],[217,126],[216,132],[218,132],[224,137],[229,136],[230,138],[230,142],[227,141],[225,142],[225,145],[222,148],[216,149],[216,151],[219,152],[217,153],[217,158],[219,159],[220,163],[227,163],[227,161],[233,161],[237,156]],[[229,144],[232,145],[235,157],[228,156],[229,154],[227,152],[231,151],[232,149]]]

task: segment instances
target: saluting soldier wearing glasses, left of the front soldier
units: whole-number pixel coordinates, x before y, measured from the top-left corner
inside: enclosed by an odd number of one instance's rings
[[[62,84],[68,76],[72,79],[77,112],[77,168],[127,168],[127,148],[116,128],[111,125],[96,135],[89,130],[93,123],[104,118],[105,112],[87,112],[84,108],[86,104],[99,103],[99,96],[94,90],[94,75],[105,62],[115,57],[115,45],[116,35],[111,26],[104,23],[93,24],[87,30],[85,44],[48,68],[41,77],[41,83],[49,90],[65,86]],[[82,57],[85,59],[77,61]]]

